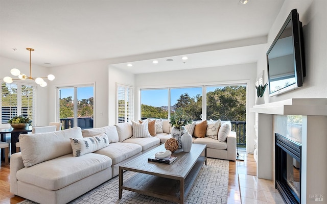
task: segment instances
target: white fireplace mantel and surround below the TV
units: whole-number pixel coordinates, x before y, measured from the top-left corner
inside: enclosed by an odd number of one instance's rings
[[[250,111],[258,117],[258,178],[275,180],[274,135],[286,133],[286,122],[279,119],[287,118],[283,115],[302,115],[301,203],[316,203],[314,196],[326,196],[327,98],[291,98],[257,105]]]

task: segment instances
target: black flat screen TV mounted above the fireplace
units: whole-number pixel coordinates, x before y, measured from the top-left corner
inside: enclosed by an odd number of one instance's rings
[[[267,51],[269,96],[301,87],[306,75],[302,22],[296,9]]]

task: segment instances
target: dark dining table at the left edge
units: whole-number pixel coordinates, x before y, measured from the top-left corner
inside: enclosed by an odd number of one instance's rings
[[[10,128],[0,128],[1,138],[0,141],[6,142],[6,134],[11,134],[11,154],[16,153],[16,142],[18,142],[18,137],[20,134],[27,134],[32,132],[32,126],[26,127],[26,129],[13,129]],[[1,160],[4,159],[4,152],[1,154]]]

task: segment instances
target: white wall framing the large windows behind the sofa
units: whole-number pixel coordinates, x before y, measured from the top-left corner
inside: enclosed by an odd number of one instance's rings
[[[141,88],[181,87],[192,85],[247,83],[247,151],[253,151],[254,113],[249,112],[255,102],[256,64],[240,64],[221,67],[135,74],[135,93]],[[135,101],[135,119],[139,119],[140,101]]]

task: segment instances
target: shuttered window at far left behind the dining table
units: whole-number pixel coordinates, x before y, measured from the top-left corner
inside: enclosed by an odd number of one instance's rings
[[[36,85],[21,83],[2,83],[1,86],[1,121],[7,123],[10,118],[22,115],[30,118],[33,125],[35,115]]]

